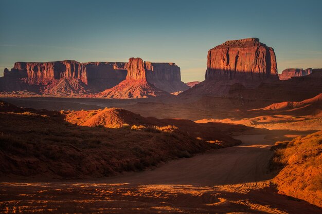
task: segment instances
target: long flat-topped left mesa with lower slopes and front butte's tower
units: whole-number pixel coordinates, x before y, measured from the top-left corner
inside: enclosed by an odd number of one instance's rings
[[[131,58],[130,64],[122,62],[88,62],[65,60],[46,63],[16,62],[4,70],[0,78],[0,91],[27,90],[35,93],[55,91],[68,95],[96,93],[117,86],[126,79],[148,80],[155,87],[168,92],[184,91],[180,68],[174,63],[142,62]],[[141,66],[141,67],[139,67]],[[81,90],[80,90],[81,88]]]

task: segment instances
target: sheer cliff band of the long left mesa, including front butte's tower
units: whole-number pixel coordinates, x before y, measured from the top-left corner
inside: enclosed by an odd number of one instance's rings
[[[148,81],[168,92],[188,89],[181,82],[180,68],[174,63],[144,62],[140,58],[130,58],[128,63],[79,63],[71,60],[46,63],[17,62],[10,71],[7,68],[4,70],[4,76],[27,79],[25,82],[32,85],[51,86],[57,82],[56,80],[67,79],[70,82],[77,79],[93,92],[113,88],[126,79]]]

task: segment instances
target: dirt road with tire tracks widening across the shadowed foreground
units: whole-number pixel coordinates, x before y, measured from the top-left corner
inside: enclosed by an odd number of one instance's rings
[[[112,178],[0,183],[0,212],[321,213],[276,193],[267,173],[274,142],[264,137],[238,136],[240,146]]]

